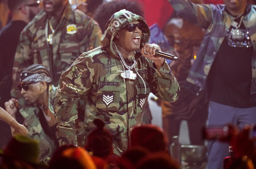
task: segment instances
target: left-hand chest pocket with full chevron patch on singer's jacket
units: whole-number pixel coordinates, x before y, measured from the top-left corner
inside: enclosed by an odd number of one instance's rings
[[[117,111],[119,92],[119,82],[99,82],[96,107],[103,110]]]

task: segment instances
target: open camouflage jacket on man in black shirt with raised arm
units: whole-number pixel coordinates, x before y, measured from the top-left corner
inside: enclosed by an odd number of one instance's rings
[[[190,22],[205,28],[206,33],[197,53],[197,59],[187,77],[187,87],[197,95],[203,91],[214,58],[222,44],[227,30],[235,17],[225,11],[225,5],[199,5],[190,0],[169,0],[177,14]],[[252,57],[251,102],[256,102],[256,6],[247,5],[243,24],[250,34],[254,53]]]

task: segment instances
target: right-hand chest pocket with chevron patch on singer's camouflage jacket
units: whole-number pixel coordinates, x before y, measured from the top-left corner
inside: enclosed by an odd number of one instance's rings
[[[146,84],[146,94],[145,94],[145,86],[136,85],[136,113],[141,113],[145,108],[147,98],[150,93],[150,84]]]

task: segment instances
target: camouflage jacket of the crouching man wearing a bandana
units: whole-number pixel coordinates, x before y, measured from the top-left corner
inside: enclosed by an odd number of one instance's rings
[[[49,110],[53,112],[54,97],[57,90],[53,85],[49,86]],[[51,139],[43,130],[39,121],[38,106],[31,106],[28,103],[23,106],[19,112],[23,116],[24,125],[28,130],[28,136],[39,141],[39,160],[48,163],[51,155],[53,154],[56,146],[53,139]]]

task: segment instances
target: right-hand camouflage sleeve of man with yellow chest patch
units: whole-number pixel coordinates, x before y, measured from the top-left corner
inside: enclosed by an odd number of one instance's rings
[[[84,21],[85,22],[85,21]],[[84,38],[80,42],[80,53],[87,52],[95,47],[101,46],[102,32],[99,28],[99,24],[93,20],[87,20],[84,25]],[[89,40],[88,40],[89,39]]]

